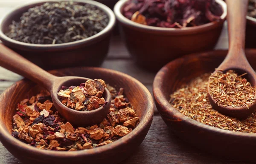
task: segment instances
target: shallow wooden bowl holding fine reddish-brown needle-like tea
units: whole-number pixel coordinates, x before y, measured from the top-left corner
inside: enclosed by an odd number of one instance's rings
[[[245,54],[250,65],[256,69],[256,50],[246,50]],[[164,122],[184,142],[225,158],[254,160],[256,134],[222,130],[202,124],[184,116],[168,102],[172,92],[201,74],[213,72],[226,55],[227,51],[209,51],[169,62],[154,78],[154,100]]]

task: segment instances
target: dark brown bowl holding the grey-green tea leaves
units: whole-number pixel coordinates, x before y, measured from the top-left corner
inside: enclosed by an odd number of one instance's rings
[[[108,54],[110,37],[116,20],[110,8],[96,1],[74,0],[74,2],[79,4],[93,4],[102,9],[109,17],[107,27],[87,39],[56,45],[39,45],[12,40],[4,34],[9,30],[12,20],[19,20],[20,16],[28,11],[29,8],[40,6],[46,2],[51,1],[30,3],[6,14],[0,22],[0,40],[3,44],[47,70],[52,68],[101,65]]]

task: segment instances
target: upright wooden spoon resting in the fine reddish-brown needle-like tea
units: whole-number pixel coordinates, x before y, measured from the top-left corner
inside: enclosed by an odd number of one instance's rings
[[[229,51],[227,57],[218,67],[218,69],[225,71],[234,70],[239,74],[247,73],[246,78],[252,86],[256,85],[256,73],[250,66],[244,54],[245,42],[245,26],[248,0],[226,0],[227,3],[227,22],[228,22],[228,36],[229,36]],[[216,71],[215,71],[216,72]],[[214,72],[214,73],[215,73]],[[210,80],[209,80],[210,81]],[[249,108],[231,107],[217,105],[215,100],[210,96],[209,82],[208,82],[208,97],[213,109],[218,110],[224,115],[236,117],[238,119],[246,119],[256,110],[256,103],[249,105]],[[256,94],[254,95],[254,99]]]

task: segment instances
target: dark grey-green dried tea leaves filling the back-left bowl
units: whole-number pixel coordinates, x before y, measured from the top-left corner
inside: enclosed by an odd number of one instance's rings
[[[29,8],[9,25],[7,37],[32,44],[60,44],[91,37],[108,25],[108,15],[94,5],[44,3]]]

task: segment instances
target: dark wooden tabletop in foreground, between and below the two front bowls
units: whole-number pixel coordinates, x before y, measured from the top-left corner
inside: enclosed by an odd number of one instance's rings
[[[20,164],[0,143],[0,164]],[[160,116],[154,116],[148,135],[134,154],[122,164],[239,164],[241,161],[209,156],[174,136]]]

